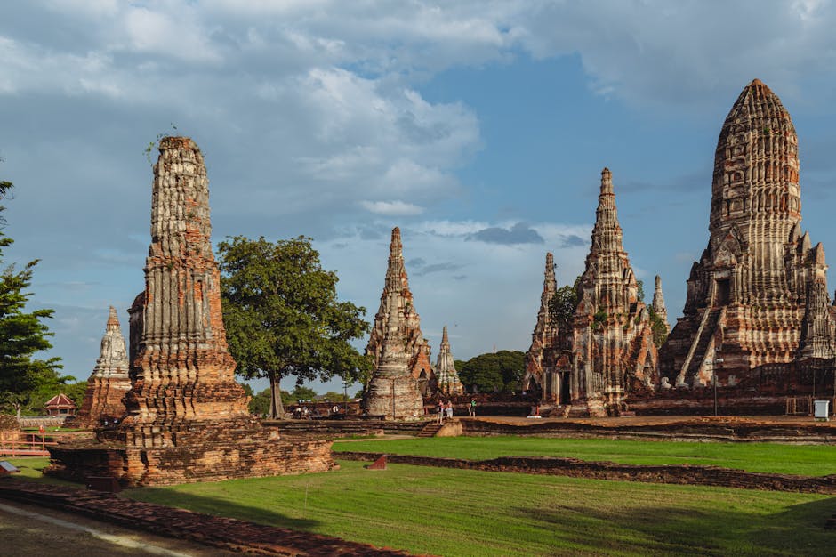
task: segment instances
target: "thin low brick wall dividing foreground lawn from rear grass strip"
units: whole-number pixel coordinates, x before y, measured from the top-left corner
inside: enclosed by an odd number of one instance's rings
[[[338,459],[374,461],[385,453],[340,452]],[[437,466],[484,472],[521,472],[585,478],[589,480],[645,481],[716,486],[722,488],[762,489],[768,491],[792,491],[800,493],[836,494],[836,474],[823,477],[790,476],[730,470],[719,466],[615,464],[611,462],[587,462],[576,458],[547,456],[501,456],[491,460],[465,460],[462,458],[435,458],[431,456],[386,455],[393,464]]]

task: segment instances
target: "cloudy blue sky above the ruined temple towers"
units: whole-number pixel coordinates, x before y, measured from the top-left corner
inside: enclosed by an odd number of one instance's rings
[[[582,272],[607,166],[633,269],[648,302],[661,275],[675,319],[717,136],[755,77],[799,134],[802,226],[836,243],[834,25],[818,0],[8,3],[4,264],[40,260],[48,355],[86,378],[109,305],[127,335],[144,287],[146,148],[188,135],[215,242],[313,238],[371,320],[399,226],[433,360],[445,325],[456,359],[525,351],[545,253],[560,285]]]

